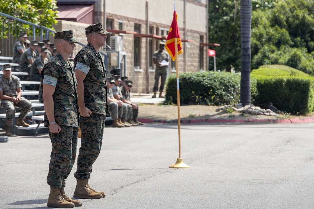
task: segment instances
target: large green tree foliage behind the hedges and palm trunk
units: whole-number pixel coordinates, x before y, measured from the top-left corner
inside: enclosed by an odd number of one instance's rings
[[[209,42],[221,44],[215,48],[218,70],[232,65],[240,71],[241,14],[238,7],[234,21],[235,3],[209,0]],[[313,1],[252,0],[251,69],[280,64],[314,75],[313,14]]]

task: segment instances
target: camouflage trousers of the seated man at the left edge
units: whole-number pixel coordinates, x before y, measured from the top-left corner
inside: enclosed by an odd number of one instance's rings
[[[6,118],[5,118],[5,127],[12,126],[13,118],[15,117],[15,106],[21,108],[21,112],[19,114],[19,118],[25,118],[26,114],[30,111],[30,108],[32,108],[32,103],[25,99],[24,97],[21,97],[21,100],[18,104],[15,104],[11,100],[2,100],[1,101],[1,108],[5,110]]]

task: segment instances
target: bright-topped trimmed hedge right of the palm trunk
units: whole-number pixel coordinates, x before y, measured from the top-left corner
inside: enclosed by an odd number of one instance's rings
[[[306,115],[314,109],[314,78],[293,68],[259,68],[251,72],[255,105],[267,107],[271,102],[279,110]],[[255,88],[255,87],[251,87]]]

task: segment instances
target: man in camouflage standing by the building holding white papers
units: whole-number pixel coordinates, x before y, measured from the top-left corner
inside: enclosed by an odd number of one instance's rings
[[[158,91],[158,85],[159,85],[159,77],[161,77],[161,83],[160,83],[160,87],[159,87],[159,97],[161,97],[161,93],[164,91],[164,85],[165,85],[165,81],[167,78],[167,66],[160,66],[160,62],[162,62],[162,60],[165,61],[169,61],[168,60],[168,55],[165,52],[164,48],[165,48],[165,43],[160,42],[159,44],[159,50],[154,52],[153,55],[153,61],[154,64],[156,65],[156,69],[155,69],[155,84],[154,84],[154,97],[156,97],[156,92]]]

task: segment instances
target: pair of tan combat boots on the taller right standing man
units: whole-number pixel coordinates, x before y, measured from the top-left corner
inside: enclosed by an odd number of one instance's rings
[[[77,179],[73,197],[83,199],[101,199],[102,194],[91,191],[87,185],[87,179]]]

